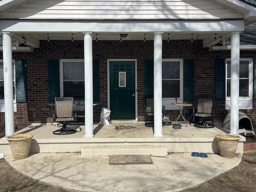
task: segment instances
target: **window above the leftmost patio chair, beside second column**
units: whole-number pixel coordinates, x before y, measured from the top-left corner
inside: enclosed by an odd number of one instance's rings
[[[84,61],[61,60],[60,80],[61,96],[84,98]]]

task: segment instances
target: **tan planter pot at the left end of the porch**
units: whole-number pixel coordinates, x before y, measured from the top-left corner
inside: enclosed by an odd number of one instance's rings
[[[32,134],[17,134],[6,138],[9,141],[14,159],[28,157],[33,136]]]

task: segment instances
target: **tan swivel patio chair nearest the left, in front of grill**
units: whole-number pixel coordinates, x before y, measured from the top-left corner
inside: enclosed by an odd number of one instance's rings
[[[76,129],[68,128],[68,122],[74,121],[73,117],[73,97],[56,97],[55,110],[53,112],[53,122],[58,122],[57,126],[61,127],[53,131],[55,135],[73,134]]]

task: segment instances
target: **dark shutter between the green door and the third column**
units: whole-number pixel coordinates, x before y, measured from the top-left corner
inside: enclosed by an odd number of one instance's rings
[[[154,98],[154,60],[145,59],[145,98]]]

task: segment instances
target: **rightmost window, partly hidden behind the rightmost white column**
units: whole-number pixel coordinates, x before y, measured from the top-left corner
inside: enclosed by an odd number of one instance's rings
[[[239,100],[252,100],[252,59],[240,59]],[[231,60],[226,60],[226,99],[230,100]]]

